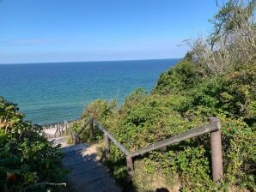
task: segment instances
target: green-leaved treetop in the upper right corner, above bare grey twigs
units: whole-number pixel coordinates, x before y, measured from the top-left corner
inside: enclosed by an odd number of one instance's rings
[[[219,3],[216,1],[216,4],[218,6]],[[255,18],[253,15],[255,7],[255,0],[248,3],[241,0],[229,0],[228,3],[224,4],[214,18],[210,20],[214,25],[214,30],[210,34],[212,48],[222,38],[226,45],[232,44],[235,36],[240,36],[255,50]]]

